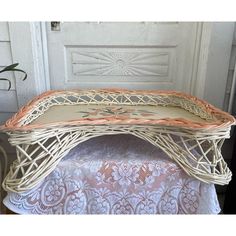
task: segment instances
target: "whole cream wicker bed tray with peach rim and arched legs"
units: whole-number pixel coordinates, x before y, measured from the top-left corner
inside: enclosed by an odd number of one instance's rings
[[[233,124],[229,114],[174,91],[49,91],[1,127],[17,151],[3,187],[33,188],[79,143],[120,133],[161,148],[190,176],[227,184],[231,172],[221,147]]]

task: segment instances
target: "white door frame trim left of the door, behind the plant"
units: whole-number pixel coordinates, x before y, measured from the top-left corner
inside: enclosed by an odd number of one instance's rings
[[[22,82],[19,73],[14,73],[18,106],[21,107],[50,90],[46,23],[9,22],[9,35],[13,62],[18,62],[28,74]]]

